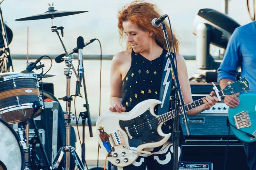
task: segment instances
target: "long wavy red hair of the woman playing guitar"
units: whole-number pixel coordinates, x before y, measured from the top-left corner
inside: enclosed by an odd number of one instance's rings
[[[131,4],[125,5],[120,11],[118,11],[118,28],[120,34],[120,40],[123,39],[123,22],[130,21],[133,24],[137,24],[137,26],[143,31],[153,32],[153,38],[156,40],[157,45],[161,48],[167,49],[167,45],[164,40],[164,33],[161,27],[154,27],[151,24],[152,19],[158,18],[160,15],[160,10],[158,10],[157,6],[154,4],[134,1]],[[167,35],[169,37],[169,43],[171,47],[171,51],[173,52],[172,41],[174,41],[175,52],[179,51],[179,41],[178,39],[170,33],[170,27],[166,24]],[[131,45],[129,43],[126,44],[127,49],[131,49]]]

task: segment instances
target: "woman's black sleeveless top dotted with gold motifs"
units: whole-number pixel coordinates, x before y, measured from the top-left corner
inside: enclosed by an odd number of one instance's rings
[[[159,100],[163,59],[166,54],[167,50],[163,49],[159,57],[150,61],[140,53],[135,53],[132,49],[131,67],[122,81],[122,105],[126,108],[125,112],[131,111],[141,101],[147,99]],[[154,111],[157,114],[157,107],[155,107]],[[165,134],[172,133],[172,127],[173,119],[165,122],[162,130]],[[180,142],[184,142],[185,138],[181,126],[179,129]],[[169,141],[172,141],[172,136]]]

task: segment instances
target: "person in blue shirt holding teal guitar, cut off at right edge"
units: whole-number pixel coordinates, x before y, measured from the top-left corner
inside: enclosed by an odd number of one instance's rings
[[[256,21],[236,28],[231,35],[217,70],[221,89],[236,81],[238,67],[241,67],[241,77],[250,83],[248,93],[256,93]],[[240,103],[238,95],[226,95],[224,102],[231,108],[237,107]],[[244,143],[244,150],[250,170],[256,170],[256,142]]]

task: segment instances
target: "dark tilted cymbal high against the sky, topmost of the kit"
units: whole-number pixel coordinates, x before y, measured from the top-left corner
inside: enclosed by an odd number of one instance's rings
[[[46,19],[46,18],[56,18],[56,17],[63,17],[68,15],[75,15],[79,13],[84,13],[88,11],[57,11],[54,10],[54,7],[49,7],[49,11],[46,11],[42,14],[32,15],[25,18],[18,18],[15,21],[27,21],[27,20],[37,20],[37,19]]]

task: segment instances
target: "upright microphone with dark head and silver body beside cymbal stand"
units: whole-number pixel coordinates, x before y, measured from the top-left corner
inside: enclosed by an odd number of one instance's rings
[[[76,40],[76,45],[78,49],[78,78],[76,81],[76,96],[80,94],[80,87],[81,87],[81,82],[83,78],[83,54],[82,54],[82,49],[84,48],[84,38],[79,36]]]

